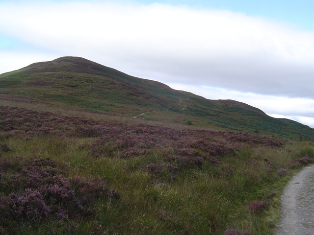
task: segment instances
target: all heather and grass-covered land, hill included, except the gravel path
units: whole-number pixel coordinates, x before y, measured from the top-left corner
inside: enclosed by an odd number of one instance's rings
[[[0,74],[0,234],[269,235],[314,129],[62,57]]]

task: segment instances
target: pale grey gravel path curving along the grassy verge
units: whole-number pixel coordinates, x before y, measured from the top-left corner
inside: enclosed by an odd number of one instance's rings
[[[292,178],[281,201],[282,219],[275,235],[314,235],[314,165]]]

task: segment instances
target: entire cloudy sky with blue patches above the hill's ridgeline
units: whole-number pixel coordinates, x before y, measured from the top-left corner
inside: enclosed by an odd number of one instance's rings
[[[0,74],[80,56],[314,128],[313,0],[0,0]]]

